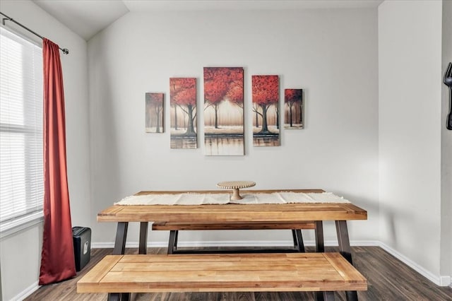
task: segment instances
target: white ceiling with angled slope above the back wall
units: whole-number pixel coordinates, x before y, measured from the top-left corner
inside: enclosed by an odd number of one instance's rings
[[[126,13],[138,11],[293,10],[376,7],[383,0],[32,0],[90,40]]]

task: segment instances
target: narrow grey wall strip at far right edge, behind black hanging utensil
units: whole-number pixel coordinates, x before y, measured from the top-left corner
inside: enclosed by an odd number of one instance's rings
[[[443,1],[442,68],[452,62],[452,1]],[[446,129],[449,90],[442,85],[441,109],[441,275],[452,277],[452,131]]]

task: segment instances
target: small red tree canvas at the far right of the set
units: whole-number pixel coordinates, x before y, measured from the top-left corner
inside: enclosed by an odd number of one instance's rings
[[[303,89],[284,90],[284,128],[303,129]]]

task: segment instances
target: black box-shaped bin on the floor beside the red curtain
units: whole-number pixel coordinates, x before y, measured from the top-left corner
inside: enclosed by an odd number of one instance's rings
[[[86,227],[73,227],[73,253],[76,257],[76,271],[90,262],[91,258],[91,229]]]

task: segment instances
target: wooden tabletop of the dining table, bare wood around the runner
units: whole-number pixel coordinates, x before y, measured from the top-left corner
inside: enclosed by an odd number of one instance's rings
[[[281,190],[248,190],[271,193]],[[323,192],[321,189],[285,189],[295,192]],[[143,194],[222,193],[222,191],[141,191]],[[225,205],[124,205],[110,206],[97,213],[99,222],[169,223],[292,223],[312,220],[367,220],[367,211],[352,203],[285,203]]]

